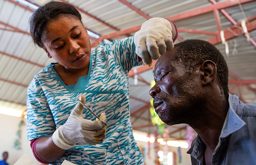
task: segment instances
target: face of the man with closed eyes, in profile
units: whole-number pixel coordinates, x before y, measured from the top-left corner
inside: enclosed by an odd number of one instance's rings
[[[176,48],[158,59],[154,72],[156,84],[149,92],[156,113],[168,125],[187,123],[199,94],[196,72],[186,72],[183,62],[174,60],[175,51]]]

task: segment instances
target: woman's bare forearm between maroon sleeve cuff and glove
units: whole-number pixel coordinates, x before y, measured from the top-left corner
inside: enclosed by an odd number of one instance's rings
[[[66,152],[52,141],[52,136],[43,137],[36,143],[36,154],[46,162],[55,162]]]

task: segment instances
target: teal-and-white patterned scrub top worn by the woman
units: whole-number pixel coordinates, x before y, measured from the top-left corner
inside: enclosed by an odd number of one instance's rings
[[[96,146],[74,146],[54,163],[65,159],[77,165],[143,164],[130,120],[128,72],[142,64],[135,54],[133,37],[103,43],[91,50],[84,90],[74,91],[60,79],[50,64],[34,76],[27,91],[28,140],[51,136],[63,125],[76,99],[85,95],[86,105],[100,115],[106,112],[107,134]],[[88,110],[83,118],[95,120]]]

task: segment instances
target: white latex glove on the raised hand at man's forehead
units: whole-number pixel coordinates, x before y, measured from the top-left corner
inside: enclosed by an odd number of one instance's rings
[[[151,66],[152,59],[157,60],[166,50],[173,49],[172,26],[167,19],[155,17],[148,19],[134,34],[136,54],[142,62]]]

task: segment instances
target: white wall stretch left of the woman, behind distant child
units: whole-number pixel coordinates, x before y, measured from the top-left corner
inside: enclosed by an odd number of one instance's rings
[[[13,165],[23,154],[26,153],[37,164],[40,164],[34,158],[30,148],[30,141],[27,141],[26,119],[23,119],[24,125],[21,127],[21,149],[16,150],[13,147],[14,141],[17,138],[16,132],[18,130],[18,125],[21,120],[22,118],[0,114],[0,159],[2,160],[2,153],[7,151],[9,153],[7,163]]]

